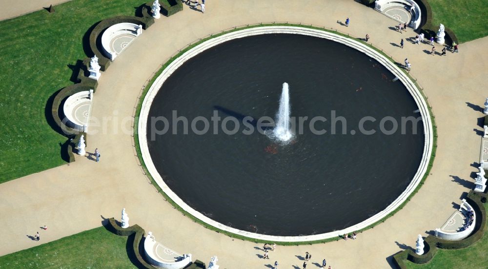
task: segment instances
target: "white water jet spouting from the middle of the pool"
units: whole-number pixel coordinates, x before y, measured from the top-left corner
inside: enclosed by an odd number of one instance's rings
[[[273,136],[283,142],[293,137],[293,133],[290,130],[290,96],[288,91],[288,83],[283,83],[280,108],[276,114],[277,124],[273,130]]]

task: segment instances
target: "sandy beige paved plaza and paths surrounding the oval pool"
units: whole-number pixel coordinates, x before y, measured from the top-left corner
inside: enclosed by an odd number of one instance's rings
[[[86,147],[89,153],[100,149],[100,163],[79,156],[74,163],[0,185],[0,256],[39,245],[26,235],[40,226],[49,227],[42,234],[41,243],[46,243],[100,227],[104,218],[120,219],[125,207],[130,224],[152,231],[164,246],[191,253],[205,263],[217,255],[221,268],[269,268],[275,260],[280,268],[301,268],[303,260],[298,256],[303,257],[305,251],[313,255],[311,263],[325,258],[334,269],[390,268],[391,255],[414,247],[418,234],[443,226],[452,215],[453,203],[459,208],[459,199],[473,186],[470,174],[477,166],[472,164],[480,156],[483,128],[478,119],[483,117],[481,106],[488,94],[488,54],[483,52],[488,38],[461,44],[459,53],[433,57],[427,53],[427,44],[406,41],[405,48],[399,48],[402,38],[415,36],[412,29],[400,34],[391,29],[398,25],[396,21],[352,0],[207,0],[205,8],[202,14],[184,5],[182,12],[162,16],[102,73],[90,117],[107,119],[107,124],[90,126]],[[4,17],[15,16],[11,12],[12,16]],[[347,17],[349,27],[342,26],[339,22]],[[269,260],[263,260],[258,258],[263,251],[257,249],[262,244],[203,228],[164,201],[142,172],[131,126],[142,86],[178,49],[233,26],[270,21],[312,23],[358,37],[369,34],[369,41],[397,62],[408,58],[411,75],[432,105],[438,148],[424,186],[385,223],[360,233],[356,240],[278,246],[269,253]]]

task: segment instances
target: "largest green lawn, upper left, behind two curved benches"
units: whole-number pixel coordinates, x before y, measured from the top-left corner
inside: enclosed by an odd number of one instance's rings
[[[65,164],[66,138],[46,120],[55,92],[87,56],[82,38],[96,22],[135,15],[143,0],[76,0],[0,21],[0,183]],[[46,112],[47,111],[47,112]]]

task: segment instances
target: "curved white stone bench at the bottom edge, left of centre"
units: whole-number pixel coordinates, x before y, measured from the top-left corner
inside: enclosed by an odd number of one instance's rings
[[[162,251],[168,258],[158,255],[158,248],[163,248]],[[188,266],[192,262],[191,254],[185,255],[186,257],[183,258],[183,255],[164,247],[159,242],[156,242],[156,239],[154,236],[152,236],[152,232],[148,232],[147,237],[144,240],[144,254],[148,262],[157,268],[181,269]]]

